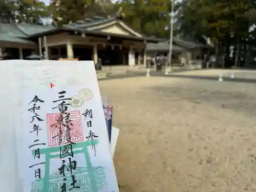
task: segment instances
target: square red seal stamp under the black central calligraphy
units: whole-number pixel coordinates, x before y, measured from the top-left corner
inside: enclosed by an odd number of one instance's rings
[[[83,141],[82,123],[80,111],[72,111],[70,113],[70,120],[72,125],[70,125],[69,135],[73,143]],[[59,127],[54,126],[58,122],[58,117],[60,113],[47,114],[47,133],[48,133],[48,146],[59,145]],[[61,145],[67,144],[69,141],[66,139],[66,129],[64,125],[61,125],[62,136]]]

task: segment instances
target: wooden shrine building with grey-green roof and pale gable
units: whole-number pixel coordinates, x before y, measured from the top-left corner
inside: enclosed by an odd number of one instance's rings
[[[32,53],[47,59],[102,60],[102,66],[145,66],[146,37],[121,18],[96,16],[84,21],[53,26],[0,24],[0,49],[4,59],[26,59]]]

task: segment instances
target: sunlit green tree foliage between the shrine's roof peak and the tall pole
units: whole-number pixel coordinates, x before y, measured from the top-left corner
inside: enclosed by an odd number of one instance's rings
[[[146,35],[168,37],[170,25],[170,1],[167,0],[125,0],[117,2],[122,7],[124,21]]]

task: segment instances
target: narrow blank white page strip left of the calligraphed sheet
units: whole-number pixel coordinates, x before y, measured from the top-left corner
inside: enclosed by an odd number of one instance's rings
[[[1,110],[1,160],[0,160],[0,185],[2,192],[18,192],[19,175],[16,157],[15,129],[13,121],[13,105],[10,82],[10,67],[6,62],[0,61],[0,108]]]

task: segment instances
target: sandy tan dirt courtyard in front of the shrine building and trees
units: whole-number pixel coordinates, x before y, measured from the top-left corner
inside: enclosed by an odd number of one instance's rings
[[[256,191],[256,84],[169,77],[99,81],[120,129],[121,192]]]

